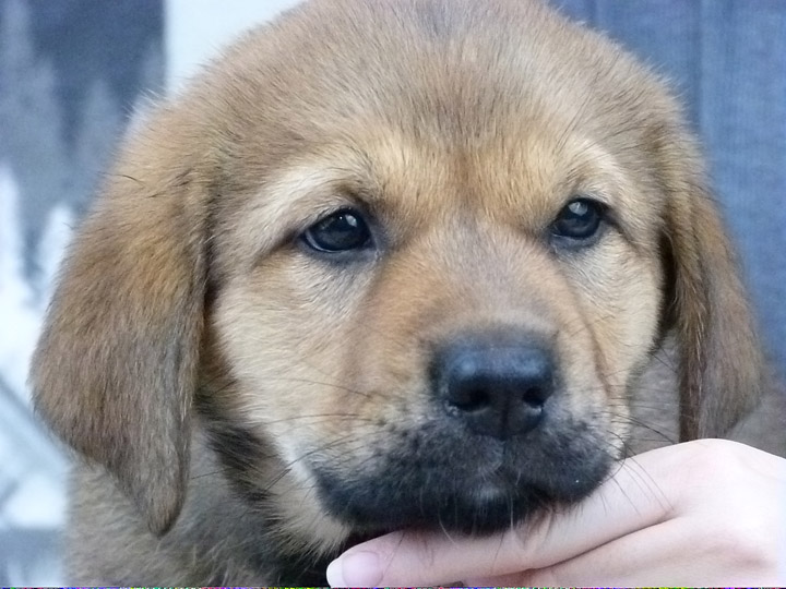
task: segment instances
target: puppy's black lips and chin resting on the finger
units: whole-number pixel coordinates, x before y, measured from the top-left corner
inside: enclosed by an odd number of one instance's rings
[[[611,466],[610,456],[597,450],[563,448],[524,459],[500,447],[490,460],[480,461],[483,453],[469,456],[472,448],[465,449],[454,448],[452,458],[439,465],[422,457],[392,458],[373,471],[359,472],[323,462],[312,473],[325,510],[359,532],[419,528],[487,534],[547,506],[582,500]]]

